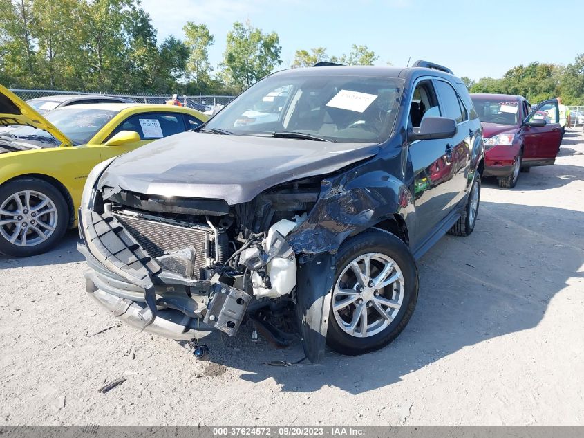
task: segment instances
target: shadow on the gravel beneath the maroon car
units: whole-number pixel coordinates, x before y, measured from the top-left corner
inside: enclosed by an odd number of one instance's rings
[[[551,166],[531,167],[529,173],[520,173],[517,185],[511,190],[528,191],[560,188],[572,181],[583,179],[584,167],[556,163]],[[482,185],[483,187],[498,188],[498,182],[494,176],[484,177]]]

